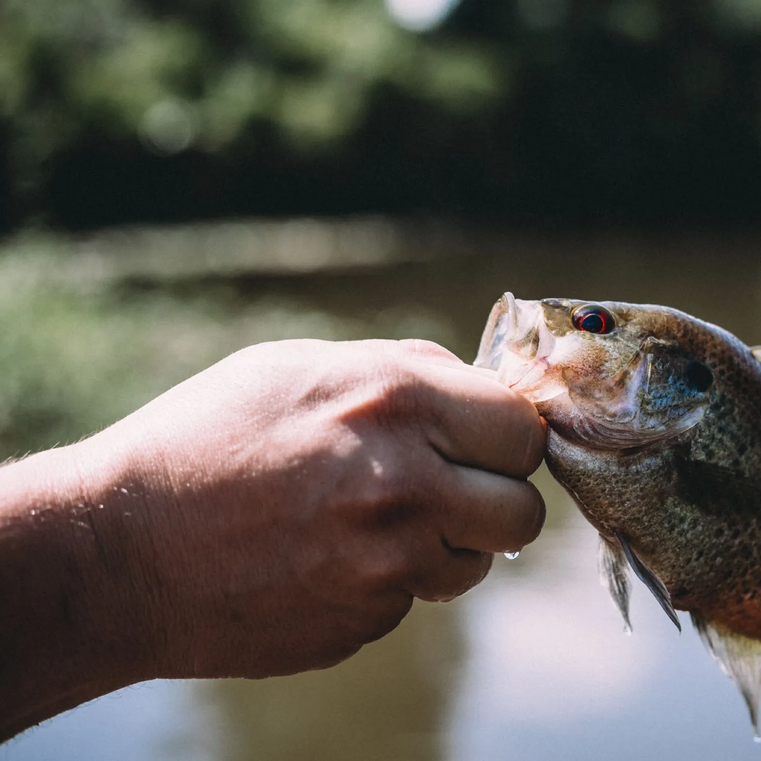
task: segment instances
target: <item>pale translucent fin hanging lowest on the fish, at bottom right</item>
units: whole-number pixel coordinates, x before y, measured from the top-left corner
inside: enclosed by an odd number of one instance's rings
[[[761,642],[743,637],[721,624],[706,621],[699,613],[690,613],[693,624],[721,670],[743,693],[750,712],[756,741],[759,737],[759,692],[761,692]]]

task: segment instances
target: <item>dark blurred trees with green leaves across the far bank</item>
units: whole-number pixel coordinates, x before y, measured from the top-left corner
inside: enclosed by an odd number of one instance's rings
[[[450,5],[5,0],[0,228],[755,221],[759,0]]]

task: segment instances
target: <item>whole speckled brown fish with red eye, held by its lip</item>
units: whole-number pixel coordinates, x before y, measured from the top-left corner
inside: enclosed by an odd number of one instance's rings
[[[761,347],[671,307],[505,293],[474,365],[546,421],[625,629],[633,573],[689,613],[761,742]]]

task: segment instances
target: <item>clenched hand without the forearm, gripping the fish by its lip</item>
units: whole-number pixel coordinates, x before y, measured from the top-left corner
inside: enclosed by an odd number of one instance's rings
[[[266,677],[347,658],[532,541],[543,444],[533,406],[435,344],[304,340],[237,352],[88,446],[132,461],[117,521],[151,534],[159,675]]]

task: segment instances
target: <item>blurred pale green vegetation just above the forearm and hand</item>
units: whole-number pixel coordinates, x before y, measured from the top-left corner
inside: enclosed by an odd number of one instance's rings
[[[248,294],[233,279],[104,281],[87,264],[62,281],[59,265],[71,258],[56,240],[2,250],[0,462],[77,441],[252,343],[414,336],[458,345],[446,317],[416,301],[355,300],[345,314],[333,304],[340,276],[310,301],[293,286]]]

